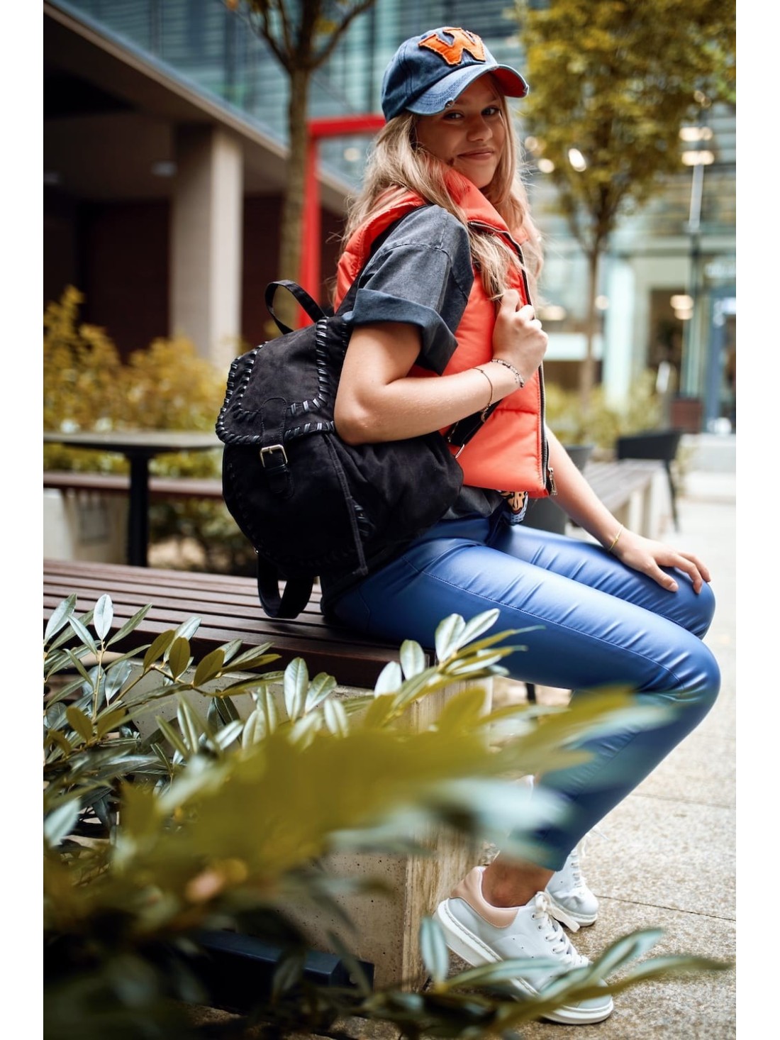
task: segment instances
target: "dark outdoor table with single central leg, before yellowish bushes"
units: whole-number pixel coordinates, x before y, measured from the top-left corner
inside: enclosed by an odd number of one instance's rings
[[[114,451],[130,463],[130,510],[127,523],[127,561],[147,566],[149,545],[149,460],[177,451],[208,451],[220,448],[216,434],[181,430],[112,430],[107,433],[73,434],[44,431],[44,443],[74,448]]]

